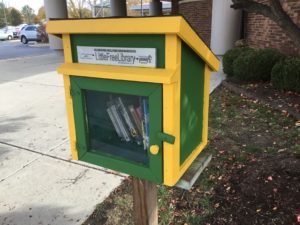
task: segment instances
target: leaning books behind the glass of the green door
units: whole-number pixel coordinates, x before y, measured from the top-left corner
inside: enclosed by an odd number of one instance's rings
[[[140,98],[139,106],[126,105],[121,97],[107,102],[107,113],[121,141],[149,147],[149,103]]]

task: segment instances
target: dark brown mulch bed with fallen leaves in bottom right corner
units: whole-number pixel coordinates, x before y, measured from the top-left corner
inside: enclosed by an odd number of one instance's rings
[[[300,155],[279,154],[233,168],[215,190],[207,224],[299,224]]]

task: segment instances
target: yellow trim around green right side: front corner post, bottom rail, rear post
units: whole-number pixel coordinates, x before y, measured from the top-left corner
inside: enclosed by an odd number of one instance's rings
[[[176,35],[166,35],[166,69],[177,68],[181,64],[181,40]],[[204,106],[201,144],[180,165],[180,87],[181,73],[176,74],[176,83],[163,85],[163,131],[176,137],[173,145],[164,142],[164,184],[174,186],[180,177],[191,166],[199,153],[205,148],[208,140],[208,110],[210,68],[204,69]]]

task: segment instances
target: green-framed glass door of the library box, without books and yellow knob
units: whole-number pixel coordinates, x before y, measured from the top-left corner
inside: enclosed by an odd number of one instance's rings
[[[106,113],[112,96],[121,96],[125,107],[137,104],[138,98],[147,98],[149,146],[158,145],[162,149],[157,135],[162,132],[161,84],[71,76],[71,95],[79,160],[159,184],[163,182],[163,151],[154,156],[142,146],[121,142]]]

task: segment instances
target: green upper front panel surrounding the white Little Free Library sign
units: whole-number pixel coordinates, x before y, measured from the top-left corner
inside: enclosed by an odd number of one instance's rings
[[[165,35],[71,35],[73,62],[78,62],[77,46],[156,48],[157,68],[165,68]]]

